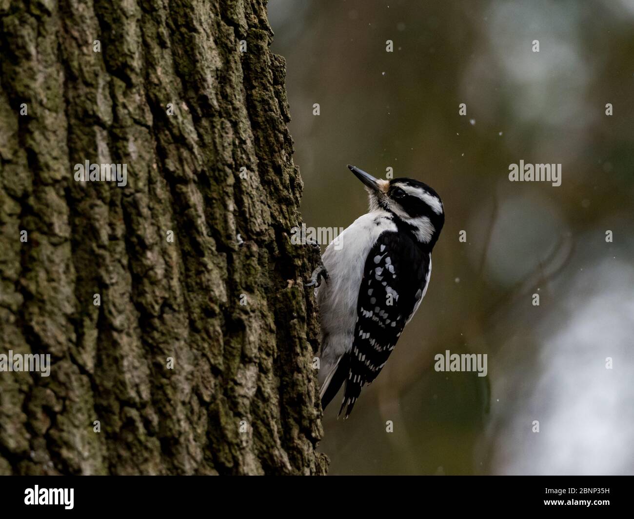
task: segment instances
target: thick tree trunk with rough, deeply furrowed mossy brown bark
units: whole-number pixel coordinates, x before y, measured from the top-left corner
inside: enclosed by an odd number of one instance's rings
[[[51,355],[0,372],[0,473],[325,473],[272,36],[262,0],[0,0],[0,353]]]

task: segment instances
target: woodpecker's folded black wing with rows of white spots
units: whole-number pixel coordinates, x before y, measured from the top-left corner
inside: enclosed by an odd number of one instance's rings
[[[420,303],[429,282],[430,262],[429,253],[397,232],[382,233],[368,254],[359,286],[353,347],[342,358],[347,377],[339,412],[347,405],[346,418],[363,384],[377,378]]]

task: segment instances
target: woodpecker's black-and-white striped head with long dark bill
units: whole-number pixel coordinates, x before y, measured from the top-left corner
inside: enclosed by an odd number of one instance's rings
[[[444,207],[436,191],[411,178],[382,180],[348,165],[370,195],[370,211],[392,213],[418,242],[433,247],[444,225]]]

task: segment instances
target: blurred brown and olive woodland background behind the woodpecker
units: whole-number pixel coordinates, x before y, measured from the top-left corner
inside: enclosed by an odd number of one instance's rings
[[[306,225],[366,212],[348,163],[422,180],[446,212],[389,362],[349,419],[340,396],[325,412],[330,473],[634,473],[634,0],[268,9]],[[562,184],[508,181],[520,160]],[[488,376],[434,371],[445,350],[487,353]]]

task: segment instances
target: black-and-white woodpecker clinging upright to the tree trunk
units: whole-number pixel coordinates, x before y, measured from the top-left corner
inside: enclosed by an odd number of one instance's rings
[[[327,273],[318,273],[326,282],[313,274],[321,317],[321,405],[325,409],[345,383],[339,414],[346,407],[346,418],[418,310],[444,224],[443,202],[428,185],[348,168],[365,184],[370,210],[327,247],[321,258]]]

